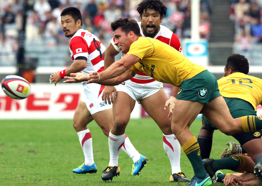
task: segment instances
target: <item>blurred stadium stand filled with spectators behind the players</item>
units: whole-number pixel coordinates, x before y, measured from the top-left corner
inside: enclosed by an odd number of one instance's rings
[[[190,38],[191,1],[162,1],[168,7],[167,18],[162,25],[173,30],[181,41]],[[83,15],[84,29],[90,30],[108,46],[112,37],[112,19],[122,16],[139,21],[136,8],[141,0],[25,2],[25,63],[28,68],[36,69],[36,82],[48,82],[49,77],[46,74],[55,72],[57,66],[68,66],[71,60],[68,52],[69,39],[65,38],[60,29],[60,12],[63,8],[79,8]],[[226,56],[232,53],[246,55],[250,65],[262,65],[262,0],[200,0],[200,4],[199,31],[201,38],[209,41],[210,65],[224,64]],[[0,78],[16,72],[23,6],[23,1],[0,0]],[[41,72],[37,70],[39,68]],[[219,77],[220,74],[216,76]]]

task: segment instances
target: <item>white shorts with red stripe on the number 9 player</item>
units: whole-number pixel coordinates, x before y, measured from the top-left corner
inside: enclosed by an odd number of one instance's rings
[[[104,87],[104,85],[96,83],[83,84],[84,95],[82,96],[81,101],[86,103],[86,107],[91,114],[112,108],[112,104],[105,104],[102,100],[101,96],[104,91]]]

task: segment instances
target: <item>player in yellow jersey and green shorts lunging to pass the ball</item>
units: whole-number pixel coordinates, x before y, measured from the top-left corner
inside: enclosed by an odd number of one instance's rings
[[[102,72],[91,72],[89,75],[71,74],[76,77],[66,77],[68,80],[64,82],[87,81],[87,84],[115,85],[130,79],[138,72],[144,72],[157,81],[180,87],[171,130],[194,170],[194,177],[189,185],[211,185],[211,178],[201,159],[199,144],[189,130],[197,115],[202,112],[226,135],[262,129],[262,118],[244,116],[233,119],[219,93],[216,77],[201,65],[191,62],[173,47],[157,39],[141,37],[135,20],[120,18],[111,24],[111,29],[114,32],[114,44],[126,55]],[[114,123],[111,133],[116,136],[124,135],[125,126],[117,126]],[[117,147],[119,146],[111,148]]]

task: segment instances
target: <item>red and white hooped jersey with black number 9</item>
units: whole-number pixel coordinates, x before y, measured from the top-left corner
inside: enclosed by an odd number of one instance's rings
[[[87,58],[87,67],[82,70],[84,74],[104,70],[102,53],[105,52],[105,49],[97,36],[84,29],[79,29],[71,38],[69,44],[70,56],[73,62],[77,57],[80,57],[80,59]]]

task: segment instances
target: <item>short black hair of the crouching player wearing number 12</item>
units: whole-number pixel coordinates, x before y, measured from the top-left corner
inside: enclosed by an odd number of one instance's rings
[[[242,72],[244,74],[248,74],[249,63],[244,55],[233,54],[226,60],[226,69],[231,69],[232,72]]]

